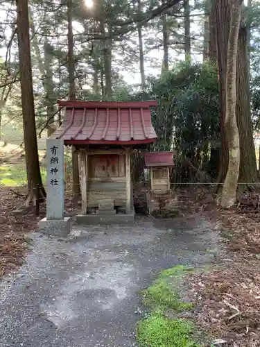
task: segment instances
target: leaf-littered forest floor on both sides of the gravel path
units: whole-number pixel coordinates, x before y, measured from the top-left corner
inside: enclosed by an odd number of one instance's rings
[[[10,150],[13,154],[13,149]],[[0,151],[0,276],[24,262],[30,238],[40,216],[33,210],[13,214],[24,203],[26,171],[24,158]],[[2,174],[3,173],[3,174]],[[69,197],[68,209],[71,209]],[[207,217],[216,225],[221,242],[211,250],[214,262],[208,271],[190,273],[189,296],[196,301],[196,324],[216,337],[212,346],[254,347],[260,341],[260,198],[248,194],[232,209],[220,210],[205,187],[180,189],[182,217]]]

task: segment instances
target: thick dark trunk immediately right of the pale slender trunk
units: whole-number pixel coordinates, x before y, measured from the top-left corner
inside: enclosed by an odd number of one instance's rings
[[[254,149],[252,120],[250,115],[250,73],[248,59],[248,30],[246,27],[239,30],[238,58],[236,67],[236,119],[240,137],[240,172],[239,182],[257,183],[257,158]],[[246,188],[243,185],[242,188]],[[251,186],[251,188],[253,188]]]

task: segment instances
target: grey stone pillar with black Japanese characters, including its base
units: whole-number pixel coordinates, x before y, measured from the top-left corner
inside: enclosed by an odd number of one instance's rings
[[[46,140],[47,197],[46,217],[39,230],[47,235],[64,237],[71,231],[71,218],[64,217],[64,141]]]

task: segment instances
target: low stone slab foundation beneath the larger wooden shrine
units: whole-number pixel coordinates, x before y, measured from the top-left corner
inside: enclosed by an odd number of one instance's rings
[[[135,210],[131,210],[130,214],[78,214],[76,223],[91,226],[91,225],[110,225],[110,224],[133,224],[135,223]]]

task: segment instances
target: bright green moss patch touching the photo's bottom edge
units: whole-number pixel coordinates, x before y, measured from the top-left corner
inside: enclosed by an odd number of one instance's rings
[[[198,347],[191,339],[194,327],[182,319],[168,319],[163,314],[152,314],[137,328],[140,347]]]

